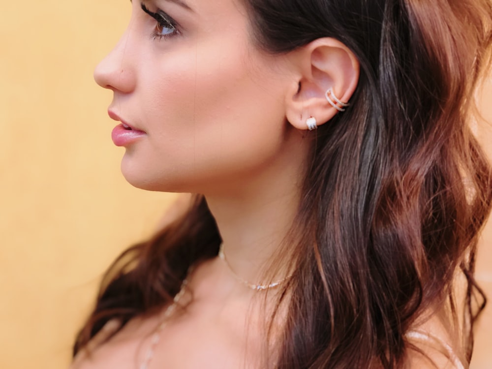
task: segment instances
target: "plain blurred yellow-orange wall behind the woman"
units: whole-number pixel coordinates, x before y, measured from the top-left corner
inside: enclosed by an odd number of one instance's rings
[[[4,1],[0,12],[0,368],[62,369],[104,269],[150,235],[174,194],[120,173],[111,93],[92,70],[130,15],[122,0]],[[492,84],[480,96],[492,122]],[[478,133],[492,157],[492,128]],[[492,297],[492,225],[477,277]],[[492,304],[491,304],[492,305]],[[487,331],[489,329],[489,331]],[[492,368],[492,307],[472,369]]]

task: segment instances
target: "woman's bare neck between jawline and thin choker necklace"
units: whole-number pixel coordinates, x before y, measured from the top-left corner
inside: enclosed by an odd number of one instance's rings
[[[296,177],[267,177],[236,187],[229,195],[206,195],[222,237],[227,264],[234,274],[248,282],[265,283],[265,268],[292,227],[301,192],[299,181],[293,178]],[[269,277],[280,280],[288,273],[279,271]]]

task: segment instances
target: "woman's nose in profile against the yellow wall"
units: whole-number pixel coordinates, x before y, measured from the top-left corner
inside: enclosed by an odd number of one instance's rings
[[[115,48],[96,66],[94,80],[99,86],[124,93],[133,91],[136,75],[129,41],[126,31]]]

